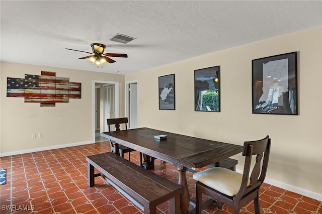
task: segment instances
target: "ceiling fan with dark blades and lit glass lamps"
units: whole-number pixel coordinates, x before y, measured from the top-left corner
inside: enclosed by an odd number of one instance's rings
[[[79,59],[87,59],[89,58],[89,62],[93,65],[97,65],[97,67],[101,66],[103,67],[103,65],[105,65],[106,63],[113,63],[115,62],[115,60],[109,58],[109,57],[126,57],[127,58],[127,54],[117,54],[117,53],[104,53],[104,50],[106,48],[106,45],[100,44],[100,43],[92,43],[91,44],[92,47],[92,51],[91,52],[87,52],[87,51],[79,51],[79,52],[84,52],[84,53],[88,53],[88,54],[94,54],[94,55],[90,55],[90,56],[85,56]],[[71,51],[78,51],[78,50],[74,50],[74,49],[69,49],[69,48],[65,48],[66,50],[71,50]]]

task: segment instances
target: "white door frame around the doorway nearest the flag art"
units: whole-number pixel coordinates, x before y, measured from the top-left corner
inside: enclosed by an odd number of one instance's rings
[[[104,81],[104,80],[93,80],[93,86],[92,86],[92,92],[93,92],[93,106],[92,106],[92,113],[93,113],[93,124],[92,124],[92,131],[93,131],[93,142],[95,143],[95,129],[96,129],[96,117],[95,117],[95,101],[96,101],[96,97],[95,97],[95,84],[96,83],[102,83],[102,84],[113,84],[115,85],[115,117],[119,117],[119,82],[115,82],[115,81]],[[104,113],[103,114],[100,114],[101,115],[101,118],[102,118],[102,115],[103,115],[103,118],[104,118]],[[103,119],[101,119],[103,120]],[[104,123],[103,123],[104,124]],[[104,127],[103,126],[103,130],[104,130]],[[102,127],[100,127],[100,129],[102,130]]]

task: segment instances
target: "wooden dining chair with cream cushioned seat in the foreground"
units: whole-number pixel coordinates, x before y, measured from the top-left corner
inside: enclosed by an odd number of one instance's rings
[[[255,213],[260,214],[259,189],[266,176],[270,147],[269,136],[262,140],[245,142],[243,174],[222,167],[195,173],[193,178],[197,180],[196,213],[200,214],[205,208],[202,206],[202,193],[204,193],[215,200],[215,205],[219,209],[222,209],[223,204],[232,207],[234,214],[239,213],[241,207],[254,200]],[[256,162],[251,171],[252,156],[256,156]]]

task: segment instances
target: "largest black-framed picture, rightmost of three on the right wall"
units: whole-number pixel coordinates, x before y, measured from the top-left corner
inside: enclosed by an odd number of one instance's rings
[[[296,52],[252,61],[253,114],[298,115]]]

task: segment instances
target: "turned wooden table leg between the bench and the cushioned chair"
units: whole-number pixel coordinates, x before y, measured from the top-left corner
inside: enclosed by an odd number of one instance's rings
[[[183,193],[181,194],[180,198],[180,210],[181,213],[188,213],[189,212],[189,201],[190,201],[190,195],[189,195],[189,189],[187,184],[187,167],[179,167],[177,166],[179,170],[179,181],[178,184],[183,187]]]

